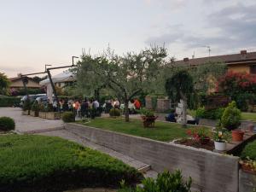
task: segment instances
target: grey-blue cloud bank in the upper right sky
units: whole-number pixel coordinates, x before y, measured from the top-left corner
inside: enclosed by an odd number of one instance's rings
[[[238,49],[256,44],[256,3],[245,6],[236,3],[213,12],[205,18],[206,28],[198,28],[191,33],[183,26],[173,31],[166,27],[166,32],[149,37],[146,44],[183,44],[187,49],[209,44],[219,49]],[[212,31],[212,32],[209,32]]]

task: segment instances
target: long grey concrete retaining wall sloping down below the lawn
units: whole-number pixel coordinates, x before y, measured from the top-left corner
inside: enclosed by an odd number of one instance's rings
[[[77,124],[67,124],[66,129],[91,142],[141,160],[157,172],[181,169],[185,177],[192,177],[194,187],[200,191],[238,191],[237,157]]]

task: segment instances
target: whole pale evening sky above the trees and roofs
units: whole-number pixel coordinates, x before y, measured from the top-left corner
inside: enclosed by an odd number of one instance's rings
[[[184,57],[256,51],[255,0],[0,0],[0,72],[69,65],[82,49],[165,45]],[[55,71],[60,73],[60,71]]]

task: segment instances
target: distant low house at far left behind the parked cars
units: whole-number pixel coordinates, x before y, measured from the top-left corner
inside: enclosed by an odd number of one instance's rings
[[[28,88],[28,89],[38,89],[38,88],[41,87],[41,85],[38,82],[33,81],[31,78],[26,77],[26,79],[27,79],[26,88]],[[21,77],[10,78],[9,81],[11,82],[11,84],[10,84],[11,89],[20,90],[20,89],[24,88]]]

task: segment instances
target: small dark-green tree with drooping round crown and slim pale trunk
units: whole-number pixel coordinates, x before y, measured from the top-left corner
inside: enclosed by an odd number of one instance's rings
[[[194,92],[193,78],[188,70],[180,70],[166,80],[166,93],[173,101],[181,100],[183,105],[183,126],[187,123],[187,102]]]

